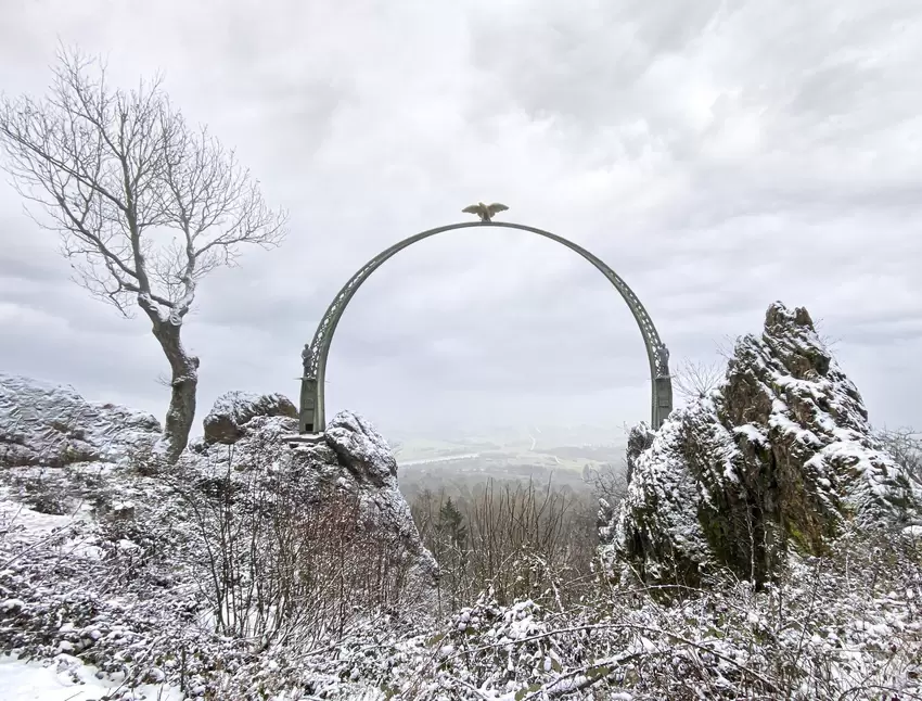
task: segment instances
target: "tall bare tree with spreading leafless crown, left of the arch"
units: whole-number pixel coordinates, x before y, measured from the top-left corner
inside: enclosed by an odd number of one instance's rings
[[[62,234],[74,280],[153,324],[170,367],[162,453],[175,460],[195,415],[199,358],[180,331],[199,281],[233,265],[240,245],[277,245],[286,214],[206,127],[192,128],[162,78],[130,91],[106,82],[101,59],[62,49],[49,94],[2,98],[0,142],[13,184]]]

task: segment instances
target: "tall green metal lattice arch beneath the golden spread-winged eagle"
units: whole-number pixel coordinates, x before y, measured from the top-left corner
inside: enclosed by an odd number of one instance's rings
[[[669,377],[669,352],[656,333],[656,328],[653,326],[653,320],[646,314],[640,299],[633,291],[622,280],[618,275],[612,270],[602,260],[589,253],[582,246],[575,244],[573,241],[559,237],[543,229],[536,229],[523,224],[512,224],[508,221],[465,221],[462,224],[449,224],[444,227],[428,229],[415,235],[404,239],[395,243],[389,248],[382,251],[374,256],[358,272],[356,272],[349,281],[340,290],[340,293],[326,308],[326,313],[320,320],[317,331],[313,334],[311,342],[304,347],[302,360],[304,361],[304,374],[302,377],[300,386],[300,413],[299,413],[299,431],[300,433],[320,433],[326,428],[324,388],[326,380],[326,356],[330,353],[330,344],[333,341],[333,334],[343,317],[343,313],[353,295],[358,291],[361,284],[380,268],[394,254],[402,251],[418,241],[427,239],[437,233],[451,231],[453,229],[466,229],[469,227],[504,227],[507,229],[518,229],[521,231],[530,231],[538,235],[551,239],[565,245],[571,251],[575,251],[584,258],[589,260],[596,268],[607,278],[614,288],[627,303],[628,308],[633,315],[637,326],[640,327],[640,333],[643,335],[643,343],[646,346],[646,357],[650,361],[650,379],[652,384],[651,396],[651,421],[654,429],[658,429],[669,412],[673,410],[673,383]]]

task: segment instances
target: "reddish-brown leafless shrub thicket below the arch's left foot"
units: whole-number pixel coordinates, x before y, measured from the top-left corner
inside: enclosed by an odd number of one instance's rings
[[[238,472],[232,450],[192,486],[164,477],[192,514],[193,565],[218,632],[309,649],[411,596],[405,546],[357,495],[307,494],[268,464]]]

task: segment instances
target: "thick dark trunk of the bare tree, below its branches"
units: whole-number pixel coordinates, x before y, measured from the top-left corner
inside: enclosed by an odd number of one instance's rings
[[[189,432],[195,419],[195,391],[199,386],[199,358],[182,347],[182,327],[153,319],[154,336],[169,361],[170,398],[164,421],[165,457],[170,463],[179,459],[189,443]]]

